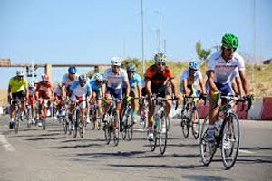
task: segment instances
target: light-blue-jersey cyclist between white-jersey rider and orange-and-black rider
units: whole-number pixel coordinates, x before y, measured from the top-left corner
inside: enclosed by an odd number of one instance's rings
[[[131,87],[130,96],[135,97],[135,95],[136,95],[135,88],[137,87],[138,98],[141,98],[141,76],[138,73],[136,73],[136,69],[137,68],[134,63],[129,63],[127,65],[127,73],[128,73],[129,83],[130,83],[130,87]],[[122,89],[123,89],[123,92],[126,91],[127,88],[126,88],[125,83],[122,84]],[[134,124],[136,123],[136,119],[134,119],[134,117],[133,117],[134,111],[135,111],[135,104],[136,104],[136,100],[132,99],[132,101],[131,101],[131,115],[132,115],[132,122]]]

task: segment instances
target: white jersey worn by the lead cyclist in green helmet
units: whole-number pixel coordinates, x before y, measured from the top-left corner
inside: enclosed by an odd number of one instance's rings
[[[212,54],[208,62],[208,71],[215,71],[215,82],[226,84],[238,77],[238,71],[245,70],[245,61],[237,52],[226,62],[221,51]]]

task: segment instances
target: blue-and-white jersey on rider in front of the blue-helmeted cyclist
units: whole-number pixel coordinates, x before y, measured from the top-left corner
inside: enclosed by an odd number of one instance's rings
[[[79,81],[73,82],[69,89],[71,90],[73,97],[89,96],[92,93],[92,88],[89,83],[85,83],[82,87]]]

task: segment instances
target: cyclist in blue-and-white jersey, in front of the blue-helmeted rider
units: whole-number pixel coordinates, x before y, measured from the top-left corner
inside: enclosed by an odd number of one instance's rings
[[[72,93],[71,96],[71,107],[74,108],[76,104],[76,100],[79,102],[80,114],[83,121],[83,128],[86,125],[87,119],[87,110],[88,110],[88,103],[90,99],[90,95],[92,93],[92,88],[89,83],[87,83],[87,77],[85,74],[79,76],[78,81],[74,81],[73,84],[70,86],[70,91]]]

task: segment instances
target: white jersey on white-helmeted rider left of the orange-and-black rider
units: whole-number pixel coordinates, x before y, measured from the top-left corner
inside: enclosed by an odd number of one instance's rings
[[[122,82],[129,81],[127,71],[120,68],[118,73],[114,73],[112,68],[104,72],[103,80],[108,81],[108,87],[112,89],[121,89]]]

